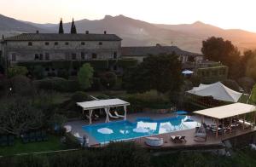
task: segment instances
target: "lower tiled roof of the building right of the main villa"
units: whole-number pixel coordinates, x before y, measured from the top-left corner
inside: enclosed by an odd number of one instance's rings
[[[172,54],[175,52],[177,55],[192,55],[200,56],[200,54],[191,53],[177,48],[177,46],[148,46],[148,47],[122,47],[121,53],[123,56],[148,56],[160,54]]]

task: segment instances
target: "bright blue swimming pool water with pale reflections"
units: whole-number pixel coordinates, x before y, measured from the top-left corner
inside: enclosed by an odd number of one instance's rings
[[[189,130],[200,124],[185,115],[173,118],[152,120],[151,118],[137,118],[134,123],[130,121],[116,121],[104,124],[83,126],[88,134],[100,143],[109,141],[125,141],[148,135],[158,135],[178,130]]]

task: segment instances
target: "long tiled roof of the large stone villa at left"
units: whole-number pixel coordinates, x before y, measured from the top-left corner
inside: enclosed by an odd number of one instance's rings
[[[58,34],[58,33],[22,33],[4,41],[120,41],[115,34]]]

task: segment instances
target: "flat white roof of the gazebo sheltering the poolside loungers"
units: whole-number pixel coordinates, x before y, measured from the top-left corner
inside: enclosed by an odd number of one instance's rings
[[[77,102],[79,107],[82,107],[84,110],[106,108],[106,107],[123,107],[129,106],[130,103],[122,101],[120,99],[108,99],[108,100],[98,100],[98,101],[84,101]]]

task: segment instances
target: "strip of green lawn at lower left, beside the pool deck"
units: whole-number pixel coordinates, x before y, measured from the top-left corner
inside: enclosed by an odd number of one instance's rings
[[[48,141],[22,143],[20,139],[15,140],[11,147],[0,147],[0,156],[14,155],[17,153],[36,153],[61,150],[65,147],[61,144],[60,137],[49,135]]]

